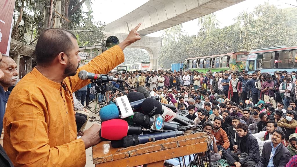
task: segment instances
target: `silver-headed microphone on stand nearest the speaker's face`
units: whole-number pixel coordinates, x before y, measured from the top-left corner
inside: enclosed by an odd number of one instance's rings
[[[108,82],[108,81],[124,82],[124,80],[122,80],[120,78],[113,78],[112,76],[105,75],[105,74],[89,73],[86,70],[81,70],[78,73],[78,78],[80,78],[81,80],[90,79],[92,81],[95,81],[97,79],[101,79],[103,82]]]

